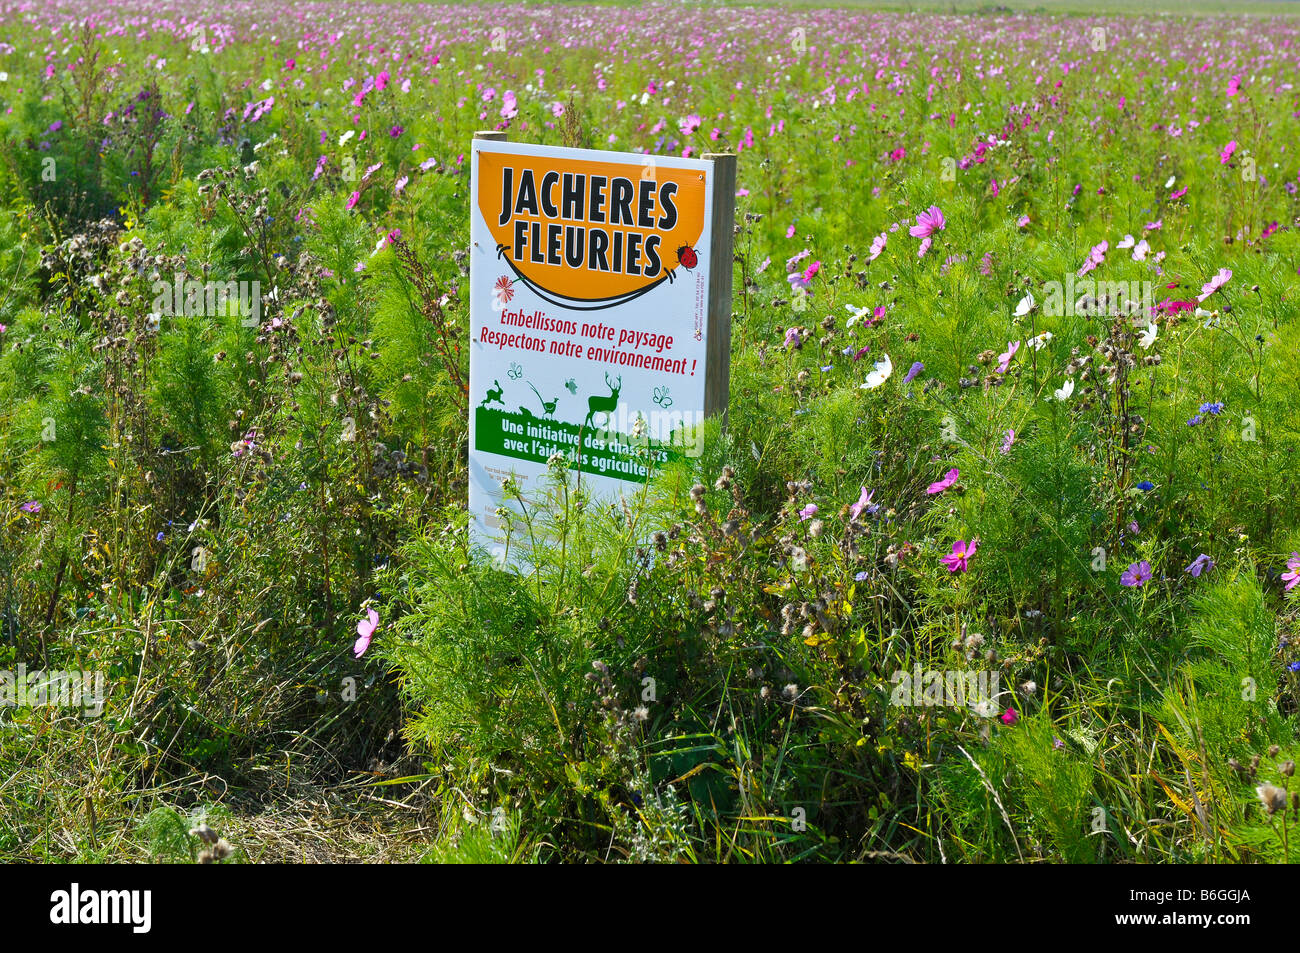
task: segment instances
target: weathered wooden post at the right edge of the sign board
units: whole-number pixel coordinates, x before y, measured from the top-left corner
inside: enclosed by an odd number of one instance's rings
[[[732,252],[736,228],[736,156],[706,152],[714,164],[714,215],[708,256],[708,343],[705,348],[705,416],[723,415],[731,394]]]

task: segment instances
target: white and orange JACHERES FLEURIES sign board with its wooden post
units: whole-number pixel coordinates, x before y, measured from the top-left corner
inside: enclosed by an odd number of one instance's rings
[[[473,541],[498,558],[528,547],[498,515],[519,512],[507,478],[541,499],[562,454],[590,497],[615,501],[692,452],[706,411],[725,408],[734,160],[720,159],[474,140],[469,511]]]

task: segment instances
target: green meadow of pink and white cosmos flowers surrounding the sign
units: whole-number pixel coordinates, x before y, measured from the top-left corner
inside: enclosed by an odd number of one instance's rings
[[[1288,862],[1300,18],[945,10],[0,3],[0,858]],[[515,571],[481,130],[737,156]]]

